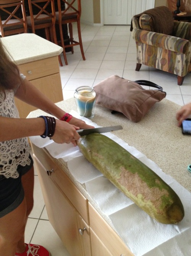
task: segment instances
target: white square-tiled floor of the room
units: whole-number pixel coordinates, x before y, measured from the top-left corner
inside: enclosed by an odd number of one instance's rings
[[[75,30],[75,28],[74,28]],[[76,30],[75,30],[76,31]],[[94,86],[102,79],[117,74],[123,78],[150,80],[163,87],[166,98],[183,106],[191,102],[191,73],[185,77],[182,86],[177,85],[176,76],[142,65],[136,67],[136,47],[129,26],[93,27],[81,25],[83,48],[86,61],[83,61],[78,46],[74,54],[67,53],[68,66],[60,67],[64,99],[73,97],[77,87]],[[34,208],[26,227],[26,243],[44,245],[52,256],[70,256],[49,223],[35,175]]]

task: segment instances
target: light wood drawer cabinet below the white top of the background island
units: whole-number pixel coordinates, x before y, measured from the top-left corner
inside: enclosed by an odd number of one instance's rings
[[[56,103],[63,100],[58,56],[20,64],[18,68],[51,101]],[[15,98],[15,102],[21,118],[26,118],[31,111],[36,110],[19,99]]]

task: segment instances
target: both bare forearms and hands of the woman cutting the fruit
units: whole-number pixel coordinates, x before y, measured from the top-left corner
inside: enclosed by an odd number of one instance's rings
[[[15,96],[41,109],[52,116],[57,117],[55,133],[52,139],[57,143],[70,143],[76,145],[76,140],[79,139],[78,129],[92,128],[84,121],[72,117],[70,122],[60,121],[59,119],[66,113],[56,106],[48,97],[40,92],[31,82],[24,79],[23,84],[17,89]],[[43,118],[9,118],[0,116],[0,141],[18,139],[21,137],[29,137],[42,135],[45,131],[45,121]]]

